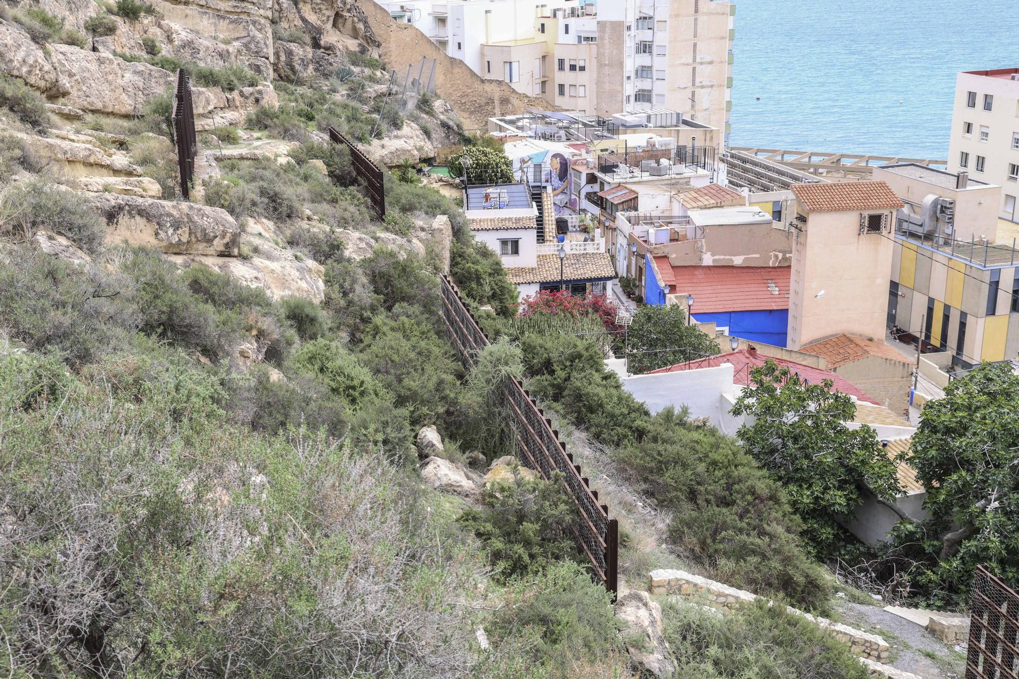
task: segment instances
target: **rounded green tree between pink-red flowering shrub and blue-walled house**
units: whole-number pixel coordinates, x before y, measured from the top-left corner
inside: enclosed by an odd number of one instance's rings
[[[641,307],[628,334],[629,370],[643,373],[718,353],[718,345],[687,324],[687,312],[678,305]]]

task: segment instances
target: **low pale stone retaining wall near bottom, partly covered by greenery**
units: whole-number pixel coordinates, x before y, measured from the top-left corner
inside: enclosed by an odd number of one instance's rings
[[[651,571],[650,575],[650,592],[652,594],[678,594],[689,598],[701,598],[706,600],[709,606],[729,611],[735,611],[741,606],[757,599],[757,595],[749,591],[730,587],[727,584],[685,571],[660,569]],[[868,634],[792,607],[789,607],[789,612],[814,622],[840,641],[849,644],[850,649],[861,658],[876,663],[883,663],[889,658],[888,642],[876,634]]]

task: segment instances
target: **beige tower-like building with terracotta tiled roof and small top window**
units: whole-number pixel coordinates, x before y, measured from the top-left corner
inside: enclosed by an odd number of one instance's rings
[[[834,334],[884,337],[896,211],[883,181],[794,184],[789,349]]]

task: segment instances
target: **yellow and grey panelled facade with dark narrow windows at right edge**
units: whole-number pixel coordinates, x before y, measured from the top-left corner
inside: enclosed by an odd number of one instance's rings
[[[889,327],[919,336],[956,366],[1019,356],[1019,253],[895,234]]]

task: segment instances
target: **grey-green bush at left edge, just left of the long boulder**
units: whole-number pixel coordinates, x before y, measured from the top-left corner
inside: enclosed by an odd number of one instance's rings
[[[40,230],[59,233],[91,254],[106,238],[106,222],[89,203],[41,179],[0,194],[0,223],[22,240]]]

